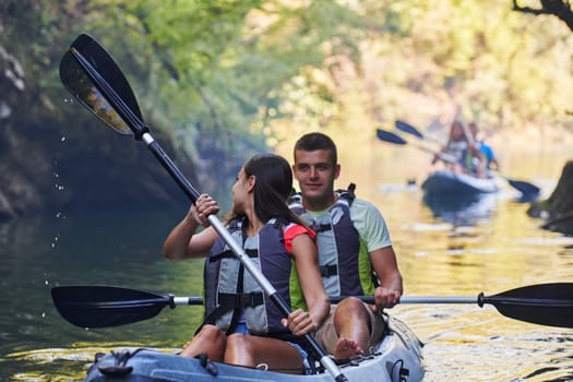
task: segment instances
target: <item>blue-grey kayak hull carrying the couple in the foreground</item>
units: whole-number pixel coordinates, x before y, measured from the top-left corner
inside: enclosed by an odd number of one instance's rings
[[[372,356],[357,357],[341,365],[349,381],[421,381],[425,363],[421,344],[401,321],[389,318],[390,332],[373,349]],[[122,358],[123,357],[123,358]],[[124,360],[122,362],[121,360]],[[293,375],[205,362],[153,349],[131,349],[100,357],[88,370],[84,382],[94,381],[333,381],[327,372]]]

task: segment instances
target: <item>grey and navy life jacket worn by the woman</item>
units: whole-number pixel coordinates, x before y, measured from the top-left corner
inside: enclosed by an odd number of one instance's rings
[[[287,306],[291,307],[291,294],[300,294],[300,286],[294,262],[284,244],[287,223],[273,218],[253,237],[244,235],[242,225],[243,219],[232,220],[228,230]],[[244,314],[247,329],[252,334],[277,337],[289,334],[280,323],[284,314],[220,238],[205,260],[203,278],[204,323],[214,324],[229,334]]]

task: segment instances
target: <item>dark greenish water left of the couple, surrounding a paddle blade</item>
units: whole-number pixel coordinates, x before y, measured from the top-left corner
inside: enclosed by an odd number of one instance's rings
[[[169,348],[190,338],[201,307],[87,331],[63,321],[50,297],[52,286],[76,284],[201,296],[202,262],[167,262],[160,255],[179,213],[91,213],[0,225],[0,380],[80,380],[94,346],[97,351],[142,344]],[[59,240],[52,246],[55,232]]]

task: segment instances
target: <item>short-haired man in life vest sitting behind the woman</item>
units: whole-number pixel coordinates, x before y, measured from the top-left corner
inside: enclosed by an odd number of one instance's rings
[[[309,133],[295,144],[293,171],[300,193],[290,207],[317,232],[319,264],[329,296],[373,295],[375,303],[349,297],[331,307],[317,341],[336,359],[368,355],[383,335],[382,310],[402,296],[402,275],[384,218],[353,190],[334,191],[341,174],[334,142]]]

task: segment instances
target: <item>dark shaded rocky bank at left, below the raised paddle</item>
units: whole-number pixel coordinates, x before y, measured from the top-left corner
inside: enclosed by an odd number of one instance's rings
[[[22,68],[0,46],[0,222],[65,208],[187,203],[141,142],[116,135],[72,103],[63,86],[61,97],[46,99],[36,92],[38,79]],[[46,74],[58,86],[56,75]],[[158,132],[154,136],[172,153]],[[190,162],[179,159],[193,181]]]

